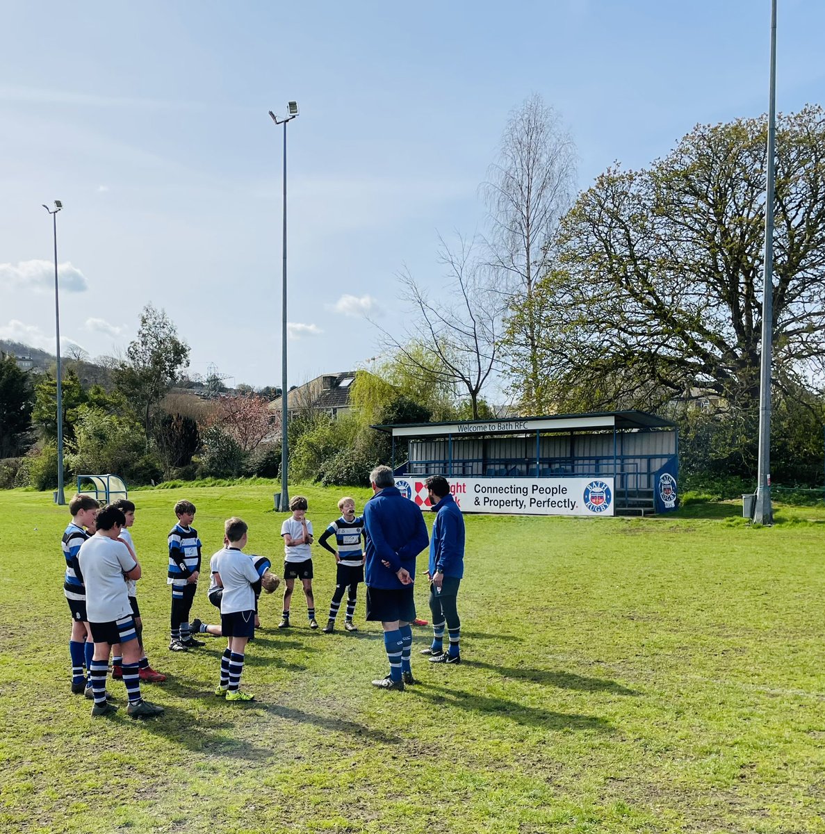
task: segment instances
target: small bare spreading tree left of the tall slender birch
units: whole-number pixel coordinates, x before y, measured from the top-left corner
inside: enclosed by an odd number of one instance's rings
[[[380,329],[402,364],[437,384],[465,390],[477,420],[481,391],[496,366],[501,298],[491,292],[472,249],[472,243],[460,238],[454,252],[440,238],[440,261],[447,268],[446,300],[430,300],[405,270],[399,275],[402,299],[412,305],[415,324],[403,342]]]

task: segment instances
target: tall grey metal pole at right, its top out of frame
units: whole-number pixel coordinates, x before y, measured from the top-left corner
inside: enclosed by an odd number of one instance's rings
[[[759,465],[753,520],[772,524],[771,352],[773,333],[773,187],[777,121],[777,0],[771,0],[771,88],[767,113],[767,193],[765,196],[765,279],[762,288],[762,361],[759,380]]]

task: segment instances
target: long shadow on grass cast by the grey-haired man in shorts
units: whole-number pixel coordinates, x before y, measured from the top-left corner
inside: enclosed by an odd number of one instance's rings
[[[609,721],[598,716],[542,710],[517,701],[507,701],[505,698],[479,695],[447,686],[419,681],[415,687],[410,687],[410,692],[415,692],[415,695],[439,706],[455,706],[470,712],[502,716],[516,721],[517,724],[537,726],[545,730],[591,730],[605,733],[614,731]]]

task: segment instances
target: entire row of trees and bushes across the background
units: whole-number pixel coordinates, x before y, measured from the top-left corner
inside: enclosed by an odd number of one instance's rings
[[[767,120],[698,125],[647,168],[616,163],[576,193],[576,148],[539,96],[516,108],[480,193],[482,234],[440,239],[443,273],[398,275],[406,333],[356,375],[355,408],[289,423],[297,478],[363,482],[389,460],[370,425],[643,409],[680,428],[682,475],[752,478],[757,463]],[[825,112],[777,122],[772,476],[822,482]],[[278,416],[244,386],[208,406],[169,396],[189,347],[163,311],[110,363],[108,387],[63,381],[73,470],[133,480],[276,475]],[[270,394],[272,392],[266,392]],[[54,380],[0,363],[0,485],[54,469]],[[36,443],[35,443],[36,441]],[[23,455],[29,446],[32,451]],[[118,453],[120,457],[116,455]],[[107,457],[108,456],[108,457]],[[108,465],[104,465],[104,462]],[[119,467],[119,469],[118,469]],[[3,475],[3,473],[6,473]]]

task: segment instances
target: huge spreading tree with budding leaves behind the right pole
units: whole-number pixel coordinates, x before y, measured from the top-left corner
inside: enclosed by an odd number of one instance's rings
[[[554,268],[512,309],[511,339],[540,321],[551,399],[645,406],[759,396],[765,118],[699,126],[641,171],[611,168],[561,227]],[[773,384],[817,389],[825,360],[825,113],[777,123]],[[527,393],[531,369],[511,376]]]

